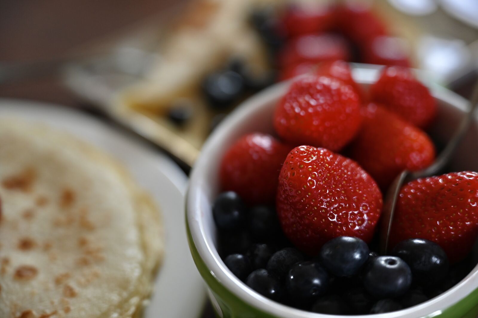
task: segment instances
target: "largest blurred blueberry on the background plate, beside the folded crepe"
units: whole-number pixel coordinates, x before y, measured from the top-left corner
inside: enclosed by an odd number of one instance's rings
[[[212,73],[206,76],[202,88],[209,106],[223,109],[231,106],[242,94],[244,79],[233,71]]]

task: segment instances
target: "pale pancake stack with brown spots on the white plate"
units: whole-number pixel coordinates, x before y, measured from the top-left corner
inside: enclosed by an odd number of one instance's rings
[[[0,120],[0,317],[139,317],[160,215],[114,160],[64,132]]]

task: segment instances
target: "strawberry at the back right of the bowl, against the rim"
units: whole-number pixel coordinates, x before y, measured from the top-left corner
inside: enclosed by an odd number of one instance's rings
[[[435,99],[408,68],[386,67],[370,87],[370,99],[418,127],[426,127],[435,117]]]

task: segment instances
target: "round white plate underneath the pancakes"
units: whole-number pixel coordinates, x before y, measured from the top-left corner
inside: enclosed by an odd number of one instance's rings
[[[163,213],[166,251],[145,318],[194,318],[206,294],[186,240],[184,194],[187,178],[165,155],[102,121],[62,106],[0,99],[0,117],[20,117],[65,130],[122,162],[149,191]]]

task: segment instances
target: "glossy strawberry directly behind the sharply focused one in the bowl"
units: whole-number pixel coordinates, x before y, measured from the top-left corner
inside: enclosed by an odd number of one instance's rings
[[[361,120],[359,96],[350,85],[305,75],[279,102],[274,127],[281,138],[295,145],[337,151],[355,136]]]

